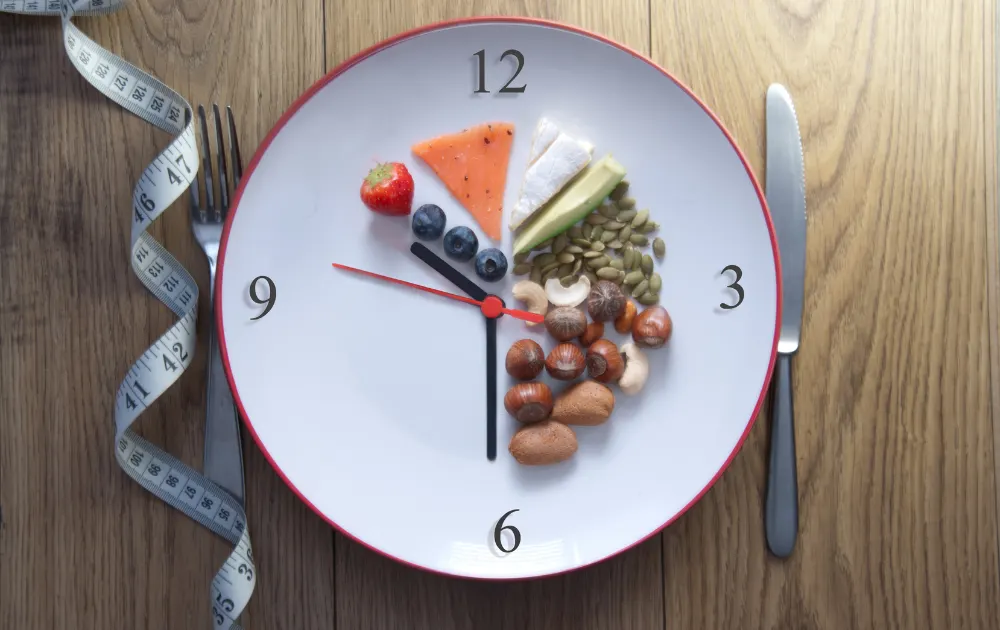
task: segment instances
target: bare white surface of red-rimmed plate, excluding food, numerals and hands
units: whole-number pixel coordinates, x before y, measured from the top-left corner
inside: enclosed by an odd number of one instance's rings
[[[512,87],[516,49],[524,56]],[[483,50],[486,87],[478,86]],[[331,263],[458,292],[409,252],[410,218],[375,215],[359,188],[378,160],[403,161],[414,210],[440,205],[448,227],[485,238],[411,152],[415,142],[488,121],[516,125],[505,207],[531,133],[549,116],[628,170],[630,195],[662,225],[661,303],[674,332],[647,353],[635,397],[578,427],[562,464],[519,465],[503,409],[507,348],[551,337],[499,322],[498,442],[485,455],[485,334],[469,305],[334,269]],[[440,252],[440,241],[432,243]],[[513,263],[512,263],[513,264]],[[742,303],[728,288],[741,270]],[[488,284],[520,306],[508,274]],[[780,284],[770,215],[746,160],[685,87],[635,52],[571,27],[475,19],[404,33],[347,61],[282,116],[254,156],[226,224],[216,295],[223,357],[247,428],[282,479],[347,536],[403,563],[456,576],[550,575],[617,554],[700,498],[756,417],[777,347]],[[272,310],[249,297],[270,278]],[[266,282],[257,283],[260,297]],[[610,337],[624,338],[608,326]],[[558,383],[547,375],[542,380]],[[516,550],[494,530],[517,528]],[[501,538],[513,545],[511,530]]]

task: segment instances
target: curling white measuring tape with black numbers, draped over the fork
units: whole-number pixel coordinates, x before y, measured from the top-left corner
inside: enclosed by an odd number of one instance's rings
[[[143,171],[132,195],[132,271],[179,317],[129,368],[115,399],[115,457],[129,477],[168,505],[222,536],[233,552],[212,579],[214,628],[240,628],[236,619],[253,594],[257,570],[246,514],[227,491],[132,431],[142,412],[191,364],[197,340],[198,285],[146,228],[187,192],[200,165],[191,105],[177,92],[101,48],[72,24],[75,15],[101,15],[126,0],[0,0],[0,11],[59,15],[63,44],[76,69],[102,94],[174,136]]]

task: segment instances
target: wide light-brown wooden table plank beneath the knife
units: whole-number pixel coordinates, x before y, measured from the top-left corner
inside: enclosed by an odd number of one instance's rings
[[[664,535],[667,618],[997,627],[992,5],[754,7],[733,19],[723,3],[653,0],[653,56],[718,112],[759,174],[767,85],[796,101],[809,206],[800,538],[787,562],[765,553],[765,417]]]

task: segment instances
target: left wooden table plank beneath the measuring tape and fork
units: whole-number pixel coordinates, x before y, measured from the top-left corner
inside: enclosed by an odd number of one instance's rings
[[[246,157],[323,68],[319,0],[137,0],[78,23],[193,104],[232,104]],[[78,75],[58,19],[0,14],[0,42],[0,627],[206,627],[209,580],[228,545],[126,477],[112,454],[118,383],[174,321],[128,266],[132,187],[168,138]],[[151,232],[207,296],[187,216],[185,198]],[[207,315],[203,298],[202,333]],[[201,337],[188,373],[138,423],[198,468]],[[329,627],[329,528],[249,439],[245,465],[250,533],[262,544],[243,623]]]

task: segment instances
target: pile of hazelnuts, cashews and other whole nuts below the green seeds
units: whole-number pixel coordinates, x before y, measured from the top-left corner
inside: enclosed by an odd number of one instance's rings
[[[514,296],[533,312],[545,315],[545,329],[558,343],[546,354],[538,342],[521,339],[507,351],[507,373],[519,382],[504,396],[504,408],[522,425],[511,438],[509,450],[525,465],[565,461],[577,450],[570,426],[606,422],[615,407],[611,386],[627,395],[641,391],[649,377],[643,350],[664,346],[673,323],[662,306],[638,311],[611,280],[599,279],[591,286],[583,276],[567,287],[549,279],[546,289],[525,280],[514,287]],[[555,300],[552,309],[548,308],[550,297]],[[631,341],[616,346],[604,337],[605,325],[630,334]],[[536,380],[543,371],[556,381],[584,380],[554,396],[546,383]]]

